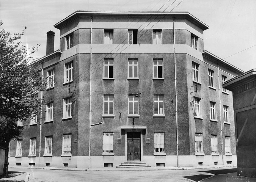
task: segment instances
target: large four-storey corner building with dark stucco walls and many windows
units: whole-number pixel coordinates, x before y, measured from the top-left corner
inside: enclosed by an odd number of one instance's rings
[[[60,50],[49,31],[38,60],[49,103],[11,142],[10,165],[236,164],[221,85],[242,71],[204,50],[206,24],[187,12],[76,11],[54,27]]]

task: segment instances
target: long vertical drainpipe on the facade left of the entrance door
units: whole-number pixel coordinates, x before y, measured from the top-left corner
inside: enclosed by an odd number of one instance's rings
[[[91,17],[91,50],[90,50],[90,54],[92,56],[92,46],[93,46],[93,17]],[[91,61],[91,57],[90,57],[90,61]],[[89,113],[89,168],[91,167],[91,62],[90,62],[90,113]]]

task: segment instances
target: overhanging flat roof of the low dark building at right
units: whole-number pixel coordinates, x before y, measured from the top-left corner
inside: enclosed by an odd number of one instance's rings
[[[256,79],[256,69],[251,69],[250,71],[247,71],[245,73],[237,75],[234,78],[231,78],[230,80],[227,80],[223,84],[223,88],[232,90],[232,89],[236,88],[237,86],[245,84],[245,82],[248,83],[255,79]]]

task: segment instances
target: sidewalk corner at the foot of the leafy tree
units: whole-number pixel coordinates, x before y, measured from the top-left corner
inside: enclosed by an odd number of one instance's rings
[[[28,182],[28,176],[26,172],[9,171],[8,178],[1,178],[0,182]]]

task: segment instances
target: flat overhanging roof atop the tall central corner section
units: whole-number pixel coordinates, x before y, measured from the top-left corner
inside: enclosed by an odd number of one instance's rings
[[[57,24],[53,25],[53,27],[60,29],[63,25],[69,23],[70,21],[74,20],[75,18],[79,16],[87,16],[87,17],[106,17],[106,16],[184,16],[187,17],[188,19],[191,19],[193,23],[198,24],[199,27],[201,27],[203,30],[206,30],[209,28],[208,25],[204,24],[201,22],[199,19],[197,19],[195,16],[192,14],[186,12],[186,11],[172,11],[172,12],[159,12],[159,11],[83,11],[83,10],[78,10],[75,11],[74,13],[70,14],[68,17],[64,18]]]

